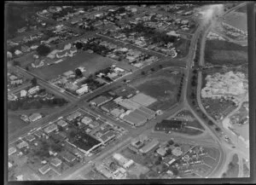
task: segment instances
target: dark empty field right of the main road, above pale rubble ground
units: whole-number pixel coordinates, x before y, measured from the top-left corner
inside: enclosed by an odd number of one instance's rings
[[[221,40],[207,40],[205,61],[212,65],[241,65],[247,63],[247,46]]]

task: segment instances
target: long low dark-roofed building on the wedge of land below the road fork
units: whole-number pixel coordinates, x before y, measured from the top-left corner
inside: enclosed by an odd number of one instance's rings
[[[183,128],[183,122],[179,120],[162,120],[161,123],[157,123],[154,126],[154,130],[159,131],[171,131],[171,130],[180,130]]]

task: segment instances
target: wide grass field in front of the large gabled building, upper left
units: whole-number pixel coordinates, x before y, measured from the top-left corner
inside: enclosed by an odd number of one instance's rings
[[[43,66],[38,69],[32,69],[31,71],[38,74],[39,77],[49,80],[56,78],[63,72],[74,70],[79,66],[84,66],[86,70],[86,72],[84,72],[84,76],[89,76],[90,73],[94,73],[111,65],[120,66],[127,70],[132,68],[132,66],[122,61],[113,61],[107,57],[102,57],[101,55],[83,52],[73,56],[72,58],[68,58],[65,61],[61,61],[58,64]]]

